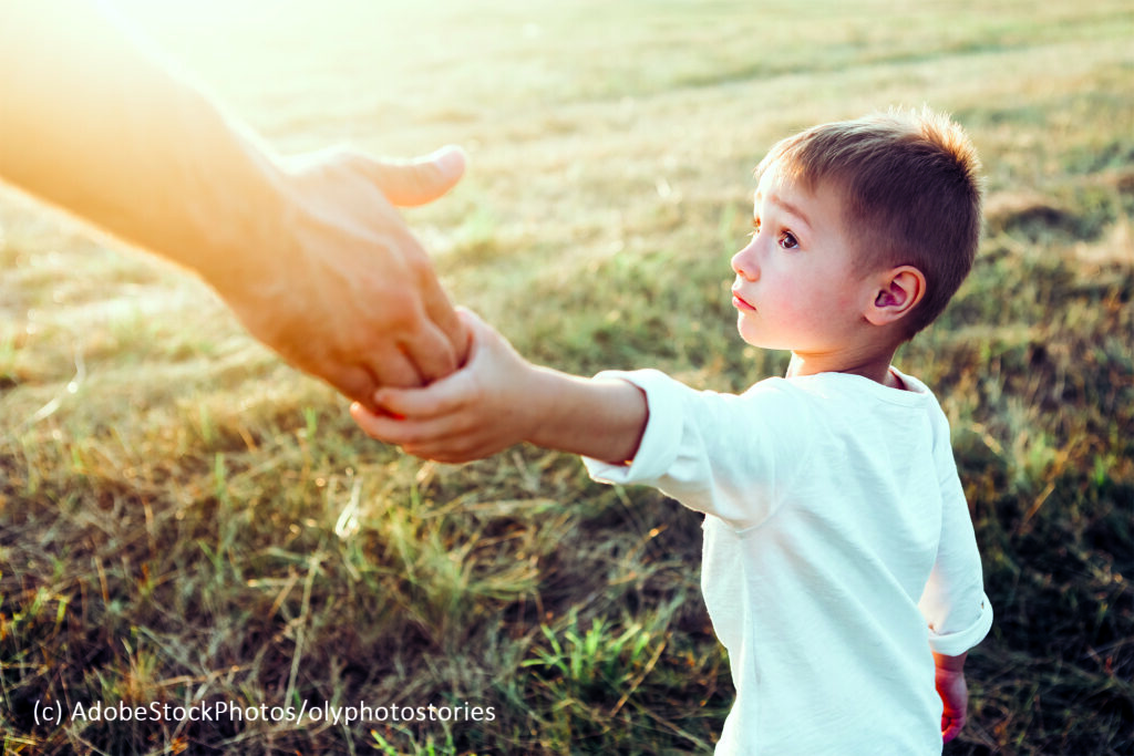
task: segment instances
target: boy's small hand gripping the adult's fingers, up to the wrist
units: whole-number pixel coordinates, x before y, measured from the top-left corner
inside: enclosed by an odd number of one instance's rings
[[[540,413],[538,371],[467,309],[467,364],[423,389],[383,388],[374,414],[355,402],[350,416],[369,435],[416,457],[464,462],[490,457],[532,435]]]

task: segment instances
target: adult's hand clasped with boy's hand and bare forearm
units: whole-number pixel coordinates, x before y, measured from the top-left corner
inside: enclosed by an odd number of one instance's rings
[[[459,150],[412,163],[356,152],[284,164],[291,209],[269,248],[278,262],[212,283],[253,335],[354,400],[371,436],[445,462],[528,441],[606,460],[633,458],[648,407],[637,388],[532,365],[449,303],[393,206],[439,197]],[[458,369],[459,368],[459,369]]]

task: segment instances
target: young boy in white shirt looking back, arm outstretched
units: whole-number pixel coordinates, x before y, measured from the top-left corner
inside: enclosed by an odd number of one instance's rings
[[[929,111],[772,147],[733,305],[744,341],[792,360],[741,396],[536,367],[466,314],[464,368],[352,413],[421,457],[530,441],[703,512],[702,591],[737,694],[718,754],[939,754],[992,613],[946,417],[890,362],[972,266],[978,170]]]

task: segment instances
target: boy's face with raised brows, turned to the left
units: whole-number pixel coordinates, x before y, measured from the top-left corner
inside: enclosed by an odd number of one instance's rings
[[[769,167],[752,219],[752,240],[733,256],[741,337],[799,355],[845,350],[874,282],[856,263],[839,189],[826,181],[809,192]]]

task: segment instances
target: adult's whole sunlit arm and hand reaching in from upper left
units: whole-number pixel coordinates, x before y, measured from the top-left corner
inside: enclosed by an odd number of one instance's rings
[[[193,270],[353,399],[455,369],[463,328],[392,205],[440,196],[463,153],[280,159],[104,10],[0,2],[0,180]]]

